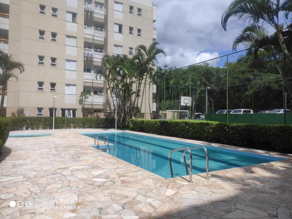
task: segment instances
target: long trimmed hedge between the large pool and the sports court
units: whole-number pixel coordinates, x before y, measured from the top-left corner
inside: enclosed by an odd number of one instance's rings
[[[292,126],[131,119],[131,129],[159,135],[292,153]]]

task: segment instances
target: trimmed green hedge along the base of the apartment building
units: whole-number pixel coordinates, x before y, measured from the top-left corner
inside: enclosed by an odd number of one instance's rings
[[[51,129],[53,117],[10,117],[10,130]],[[114,119],[55,117],[55,129],[59,128],[114,128]]]

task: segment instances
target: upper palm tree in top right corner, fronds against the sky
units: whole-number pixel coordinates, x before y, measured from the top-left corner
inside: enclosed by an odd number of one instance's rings
[[[292,68],[291,56],[283,37],[284,24],[279,24],[280,12],[284,12],[285,18],[288,19],[292,13],[292,1],[284,0],[280,4],[280,0],[234,0],[223,13],[221,25],[226,31],[227,21],[229,18],[235,17],[242,22],[272,26],[276,30],[275,37],[279,41],[279,46]]]

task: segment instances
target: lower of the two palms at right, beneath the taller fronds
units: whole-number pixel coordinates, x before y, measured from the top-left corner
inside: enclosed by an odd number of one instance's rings
[[[281,25],[279,28],[280,31],[283,31],[284,26]],[[233,50],[236,50],[239,44],[243,44],[245,46],[249,55],[257,56],[260,49],[269,53],[272,56],[277,66],[277,69],[283,79],[283,82],[292,97],[291,87],[289,86],[285,78],[285,75],[278,60],[279,53],[281,52],[281,46],[278,40],[277,33],[275,32],[273,34],[270,34],[270,32],[263,26],[249,24],[246,28],[242,30],[241,34],[239,34],[239,36],[235,38],[232,46]]]

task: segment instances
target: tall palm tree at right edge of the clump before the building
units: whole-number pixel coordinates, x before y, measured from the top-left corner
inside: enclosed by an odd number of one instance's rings
[[[141,82],[143,81],[144,77],[145,77],[145,81],[144,81],[144,87],[143,87],[143,91],[142,91],[142,97],[141,97],[141,103],[140,103],[140,109],[142,107],[142,102],[143,102],[143,95],[144,95],[144,90],[145,90],[145,86],[146,86],[146,79],[147,77],[150,78],[150,72],[155,71],[154,64],[158,63],[158,58],[157,55],[159,54],[163,54],[164,57],[166,57],[166,52],[163,49],[157,48],[157,46],[159,45],[158,42],[153,42],[148,48],[144,45],[138,45],[136,47],[136,58],[138,60],[138,62],[140,63],[140,65],[142,65],[142,69],[144,71],[141,71],[143,73],[143,77]],[[137,57],[138,56],[138,57]],[[140,89],[139,89],[140,90]],[[137,101],[138,104],[138,101]]]

